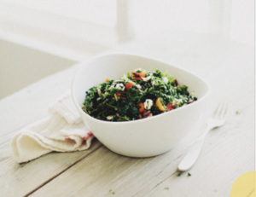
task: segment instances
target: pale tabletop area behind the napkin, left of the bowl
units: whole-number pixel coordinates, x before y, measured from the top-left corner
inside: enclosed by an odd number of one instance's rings
[[[0,134],[5,135],[44,118],[48,107],[63,92],[70,89],[79,65],[39,80],[0,101]]]

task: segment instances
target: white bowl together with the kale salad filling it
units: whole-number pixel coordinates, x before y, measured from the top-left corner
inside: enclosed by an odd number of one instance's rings
[[[88,130],[114,153],[130,157],[172,149],[198,121],[210,92],[205,80],[181,67],[131,54],[82,62],[72,84]]]

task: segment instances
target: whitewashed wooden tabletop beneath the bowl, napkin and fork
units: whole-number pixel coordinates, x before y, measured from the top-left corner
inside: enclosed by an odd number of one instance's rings
[[[170,30],[109,52],[147,55],[207,79],[212,96],[198,130],[153,158],[113,154],[94,140],[87,151],[16,163],[11,136],[47,115],[49,103],[70,88],[75,65],[0,101],[0,196],[230,196],[236,179],[255,170],[253,46]],[[229,102],[226,124],[209,132],[196,164],[178,177],[178,163],[219,101]]]

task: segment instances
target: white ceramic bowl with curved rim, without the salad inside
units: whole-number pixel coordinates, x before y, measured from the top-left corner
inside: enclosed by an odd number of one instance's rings
[[[136,68],[168,71],[179,84],[194,91],[198,101],[168,113],[125,122],[108,122],[90,117],[81,109],[85,91],[106,78],[118,79]],[[94,136],[117,154],[130,157],[150,157],[164,154],[189,133],[207,103],[210,87],[203,79],[179,67],[140,55],[100,55],[83,63],[73,78],[72,95],[75,106]]]

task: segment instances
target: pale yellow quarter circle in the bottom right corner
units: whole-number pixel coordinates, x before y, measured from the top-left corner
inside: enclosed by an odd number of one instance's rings
[[[236,179],[230,192],[230,197],[255,197],[255,174],[249,171]]]

